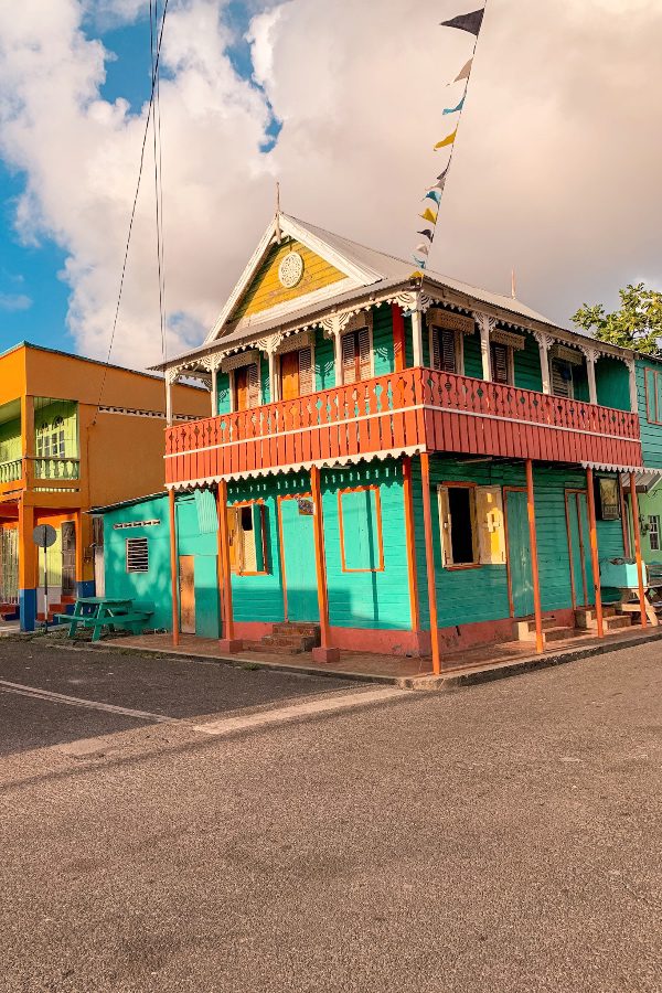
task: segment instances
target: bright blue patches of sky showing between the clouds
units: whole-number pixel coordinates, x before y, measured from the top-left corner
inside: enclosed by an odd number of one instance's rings
[[[249,78],[253,65],[245,40],[248,7],[231,0],[223,15],[233,30],[234,42],[228,51],[232,64],[239,76]],[[95,31],[93,24],[86,28],[88,36],[100,39],[115,56],[106,62],[100,96],[109,102],[124,97],[131,110],[139,113],[150,92],[149,18],[105,31]],[[275,142],[279,127],[274,118],[267,129],[265,150]],[[24,244],[15,229],[17,199],[25,182],[24,174],[10,171],[0,158],[0,351],[22,340],[74,350],[75,342],[66,327],[70,288],[61,275],[66,252],[46,237],[39,244]],[[129,210],[127,203],[127,223]]]

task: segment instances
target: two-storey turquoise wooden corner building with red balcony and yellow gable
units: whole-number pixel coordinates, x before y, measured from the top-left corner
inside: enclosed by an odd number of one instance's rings
[[[637,559],[628,501],[662,468],[647,369],[280,214],[163,367],[210,417],[167,429],[163,494],[106,509],[106,592],[150,589],[175,639],[325,661],[607,633],[630,618],[601,563]]]

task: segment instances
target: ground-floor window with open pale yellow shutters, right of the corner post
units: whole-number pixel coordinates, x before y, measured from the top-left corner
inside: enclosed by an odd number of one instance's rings
[[[505,528],[500,487],[469,483],[438,489],[445,568],[505,563]]]

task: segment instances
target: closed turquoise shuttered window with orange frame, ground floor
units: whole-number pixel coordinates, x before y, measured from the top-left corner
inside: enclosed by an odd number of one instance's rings
[[[341,490],[338,510],[343,573],[382,573],[384,543],[378,488]]]

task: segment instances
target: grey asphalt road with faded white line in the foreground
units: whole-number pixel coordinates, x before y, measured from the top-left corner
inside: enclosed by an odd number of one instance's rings
[[[662,990],[661,651],[333,713],[0,642],[0,990]]]

